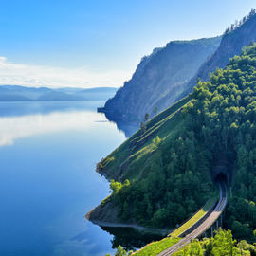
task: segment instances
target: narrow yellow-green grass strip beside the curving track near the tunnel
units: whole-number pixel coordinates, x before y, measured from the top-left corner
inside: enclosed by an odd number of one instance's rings
[[[216,198],[211,198],[206,205],[198,210],[192,218],[190,218],[187,222],[185,222],[178,229],[175,229],[174,232],[170,234],[171,237],[178,237],[183,234],[185,231],[190,229],[197,221],[199,221],[202,217],[204,217],[207,212],[211,209],[211,207],[216,203]]]

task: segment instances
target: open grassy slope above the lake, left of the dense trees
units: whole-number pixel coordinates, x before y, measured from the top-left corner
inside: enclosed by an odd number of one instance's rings
[[[119,148],[102,159],[100,167],[103,172],[111,178],[119,176],[121,180],[139,178],[140,175],[134,171],[140,170],[142,174],[143,170],[150,165],[149,159],[153,156],[155,149],[160,146],[155,145],[153,139],[158,136],[162,140],[162,144],[165,144],[174,138],[180,129],[183,129],[183,122],[177,111],[190,100],[190,97],[186,97],[159,113],[147,123],[147,130],[143,134],[138,130]],[[123,165],[125,165],[124,168]]]

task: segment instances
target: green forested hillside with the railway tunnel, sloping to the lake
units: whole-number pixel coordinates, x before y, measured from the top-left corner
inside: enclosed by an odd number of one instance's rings
[[[172,229],[212,196],[222,162],[233,185],[225,223],[251,239],[255,137],[256,46],[249,46],[101,161],[98,171],[115,179],[112,195],[87,218]]]

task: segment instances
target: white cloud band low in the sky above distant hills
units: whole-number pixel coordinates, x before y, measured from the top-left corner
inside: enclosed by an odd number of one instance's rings
[[[131,74],[122,70],[90,71],[86,67],[63,68],[46,65],[15,64],[0,57],[0,84],[29,87],[119,87]]]

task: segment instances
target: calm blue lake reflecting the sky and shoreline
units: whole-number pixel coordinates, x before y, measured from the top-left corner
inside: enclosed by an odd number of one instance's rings
[[[84,218],[109,194],[97,162],[126,138],[102,104],[0,102],[0,255],[102,256],[155,239]]]

